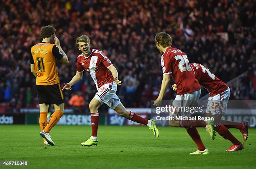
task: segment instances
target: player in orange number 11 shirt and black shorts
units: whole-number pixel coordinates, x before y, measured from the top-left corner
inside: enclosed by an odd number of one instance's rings
[[[56,70],[56,59],[65,65],[69,63],[55,32],[56,29],[52,26],[43,27],[41,31],[43,40],[31,47],[30,58],[31,72],[36,77],[36,92],[40,108],[40,136],[44,138],[44,145],[50,144],[52,146],[54,142],[49,132],[64,114],[64,97]],[[47,124],[49,104],[54,105],[55,112]]]

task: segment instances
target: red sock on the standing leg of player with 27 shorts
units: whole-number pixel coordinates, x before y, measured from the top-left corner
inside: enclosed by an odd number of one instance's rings
[[[218,126],[214,127],[214,129],[216,130],[216,132],[218,132],[224,139],[229,140],[230,142],[232,142],[233,144],[240,144],[241,142],[238,141],[238,139],[236,139],[236,137],[234,137],[229,131],[228,129],[223,126],[222,124],[219,124]]]

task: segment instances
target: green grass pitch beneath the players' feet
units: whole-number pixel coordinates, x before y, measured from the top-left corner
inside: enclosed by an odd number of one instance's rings
[[[90,126],[56,126],[51,131],[56,146],[44,146],[37,125],[0,125],[0,160],[28,160],[36,169],[246,169],[255,168],[256,129],[249,129],[244,149],[225,152],[231,143],[217,134],[210,140],[199,128],[208,155],[188,155],[197,148],[183,128],[159,127],[154,138],[145,126],[99,126],[99,144],[80,145],[90,137]],[[230,131],[242,140],[238,129]],[[17,167],[9,167],[17,168]]]

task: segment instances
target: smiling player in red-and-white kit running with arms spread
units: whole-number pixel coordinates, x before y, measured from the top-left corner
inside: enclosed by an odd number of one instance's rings
[[[155,121],[153,119],[144,119],[135,112],[125,109],[120,99],[115,94],[117,85],[122,85],[122,82],[118,80],[118,72],[105,53],[102,50],[90,48],[90,39],[87,35],[78,37],[77,45],[78,49],[82,52],[82,54],[77,57],[77,73],[69,83],[64,83],[65,86],[63,89],[71,90],[72,85],[82,78],[84,70],[90,72],[97,87],[97,93],[89,104],[92,135],[87,141],[82,142],[81,145],[89,147],[98,144],[97,130],[100,117],[98,108],[104,103],[115,110],[120,116],[132,120],[133,122],[147,125],[154,133],[154,136],[158,138],[159,131],[156,128]]]

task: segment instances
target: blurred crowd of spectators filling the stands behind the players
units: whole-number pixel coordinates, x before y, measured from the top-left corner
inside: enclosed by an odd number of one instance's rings
[[[38,104],[29,57],[45,25],[57,29],[69,57],[69,65],[58,64],[61,86],[76,73],[80,52],[75,40],[86,34],[91,47],[104,50],[117,68],[123,104],[150,107],[162,80],[154,36],[164,31],[191,63],[205,65],[224,82],[247,71],[241,86],[230,86],[231,99],[256,99],[255,7],[253,0],[1,0],[0,104]],[[89,73],[72,92],[64,92],[67,106],[77,91],[87,107],[96,92]],[[174,97],[168,89],[165,99]]]

